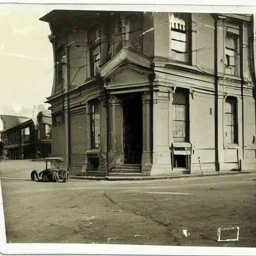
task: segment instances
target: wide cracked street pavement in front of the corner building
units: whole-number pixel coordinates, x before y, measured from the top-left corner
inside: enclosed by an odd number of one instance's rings
[[[256,245],[256,173],[41,183],[29,180],[35,165],[0,162],[7,242]],[[239,240],[217,242],[228,226]]]

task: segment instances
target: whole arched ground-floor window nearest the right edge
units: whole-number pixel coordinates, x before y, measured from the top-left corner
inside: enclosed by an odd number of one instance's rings
[[[227,144],[238,143],[237,99],[227,96],[225,100],[225,141]]]

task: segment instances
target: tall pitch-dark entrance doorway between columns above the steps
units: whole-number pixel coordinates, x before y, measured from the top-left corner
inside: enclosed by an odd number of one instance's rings
[[[124,163],[140,164],[142,155],[141,95],[126,95],[122,102]]]

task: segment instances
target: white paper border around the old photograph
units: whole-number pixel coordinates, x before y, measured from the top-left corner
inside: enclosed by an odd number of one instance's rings
[[[156,4],[157,2],[157,4]],[[171,7],[175,11],[189,12],[212,12],[212,13],[252,13],[252,8],[256,13],[256,5],[253,0],[225,1],[223,0],[168,0],[139,1],[139,0],[9,0],[1,1],[4,7],[15,7],[15,4],[24,4],[27,7],[36,4],[47,4],[49,10],[53,8],[61,9],[88,9],[88,10],[136,10],[136,11],[168,11]],[[61,3],[61,5],[59,5]],[[103,4],[102,4],[103,3]],[[134,4],[136,3],[136,4]],[[168,4],[167,4],[168,3]],[[179,5],[176,5],[176,4]],[[65,4],[65,5],[63,5]],[[186,4],[186,5],[181,5]],[[238,6],[239,5],[239,6]],[[246,5],[246,6],[244,6]],[[46,14],[46,13],[45,13]],[[256,31],[256,30],[255,30]],[[1,254],[90,254],[90,255],[256,255],[255,248],[245,247],[208,247],[208,246],[155,246],[155,245],[119,245],[119,244],[61,244],[61,243],[6,243],[5,222],[3,212],[3,200],[0,179],[0,255]]]

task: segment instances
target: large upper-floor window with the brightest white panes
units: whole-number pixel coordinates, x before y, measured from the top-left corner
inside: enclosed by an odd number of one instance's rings
[[[186,13],[170,13],[171,59],[189,62],[189,26],[190,15]]]

